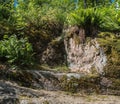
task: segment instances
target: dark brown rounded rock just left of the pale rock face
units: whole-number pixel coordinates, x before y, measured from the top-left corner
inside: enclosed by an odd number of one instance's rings
[[[65,47],[62,37],[52,40],[41,57],[41,63],[49,66],[62,65],[65,61]]]

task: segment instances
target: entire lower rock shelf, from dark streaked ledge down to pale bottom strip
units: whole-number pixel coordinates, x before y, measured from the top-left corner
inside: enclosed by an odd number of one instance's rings
[[[61,90],[82,95],[66,95],[59,92]],[[103,98],[91,98],[91,102],[87,101],[87,96],[81,97],[84,93],[93,92],[120,95],[120,86],[106,77],[88,77],[79,73],[0,69],[0,104],[119,104],[119,97],[111,101],[112,97],[105,101],[102,101]],[[94,99],[97,101],[94,102]]]

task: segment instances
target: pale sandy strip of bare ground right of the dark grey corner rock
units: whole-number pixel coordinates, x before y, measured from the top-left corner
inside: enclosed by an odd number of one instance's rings
[[[120,104],[120,96],[69,94],[61,91],[44,91],[38,98],[22,97],[20,104]]]

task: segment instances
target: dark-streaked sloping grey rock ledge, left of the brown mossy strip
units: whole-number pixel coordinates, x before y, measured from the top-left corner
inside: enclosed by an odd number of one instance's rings
[[[84,74],[77,73],[57,73],[42,70],[1,70],[0,79],[11,80],[19,85],[45,90],[61,90],[61,79],[67,76],[80,79]]]

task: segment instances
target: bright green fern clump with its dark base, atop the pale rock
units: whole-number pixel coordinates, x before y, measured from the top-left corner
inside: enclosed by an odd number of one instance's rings
[[[103,23],[103,14],[94,8],[75,10],[67,18],[68,24],[77,25],[85,30],[85,34],[95,35]]]

